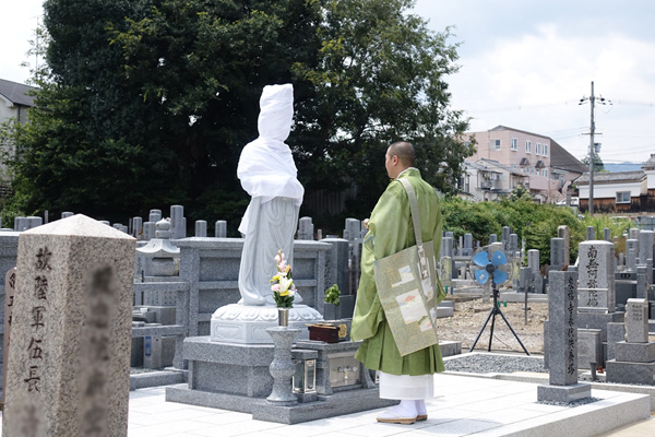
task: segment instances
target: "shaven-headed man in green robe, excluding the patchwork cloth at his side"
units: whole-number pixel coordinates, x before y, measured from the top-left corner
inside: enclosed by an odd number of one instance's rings
[[[380,370],[380,398],[401,400],[400,405],[378,416],[379,422],[412,424],[427,420],[425,400],[433,397],[433,374],[443,371],[439,345],[401,356],[380,304],[373,261],[416,245],[409,199],[398,178],[406,178],[418,201],[421,237],[441,247],[441,211],[432,186],[414,167],[414,146],[397,142],[389,146],[385,167],[392,181],[378,201],[368,222],[361,250],[361,279],[353,316],[352,339],[362,340],[355,357]],[[445,292],[437,279],[438,302]]]

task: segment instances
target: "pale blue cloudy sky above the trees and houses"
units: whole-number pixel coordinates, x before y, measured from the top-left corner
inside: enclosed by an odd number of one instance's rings
[[[24,82],[40,0],[0,2],[0,78]],[[600,157],[643,162],[655,153],[655,1],[418,0],[414,13],[442,32],[455,26],[461,70],[450,76],[452,105],[472,130],[504,125],[553,138],[574,156],[588,151],[596,94]]]

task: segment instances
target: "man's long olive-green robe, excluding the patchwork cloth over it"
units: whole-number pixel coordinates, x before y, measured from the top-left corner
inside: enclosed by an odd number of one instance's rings
[[[407,169],[400,178],[408,179],[416,192],[422,240],[432,240],[438,251],[442,223],[437,192],[422,180],[416,168]],[[401,356],[376,288],[373,261],[415,244],[407,193],[398,180],[392,180],[370,216],[369,232],[361,249],[361,279],[350,331],[353,340],[364,340],[355,357],[369,369],[412,376],[444,370],[438,344]],[[441,302],[445,293],[440,281],[437,281],[437,287]]]

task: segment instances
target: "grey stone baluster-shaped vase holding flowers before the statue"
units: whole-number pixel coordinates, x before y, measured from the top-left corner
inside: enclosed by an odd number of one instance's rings
[[[277,327],[266,328],[266,332],[273,338],[274,344],[273,362],[269,366],[273,377],[273,391],[266,400],[281,406],[295,405],[298,398],[294,394],[291,386],[291,377],[296,373],[296,365],[291,359],[291,345],[300,329]]]

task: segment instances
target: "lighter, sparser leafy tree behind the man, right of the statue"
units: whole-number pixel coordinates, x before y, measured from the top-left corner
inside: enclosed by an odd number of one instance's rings
[[[366,215],[388,182],[386,146],[408,140],[424,178],[453,193],[475,149],[461,139],[467,120],[449,106],[444,79],[457,71],[449,31],[429,31],[409,13],[410,0],[321,4],[318,62],[294,66],[313,84],[313,98],[298,105],[294,135],[308,190],[356,184],[360,194],[348,211]]]

